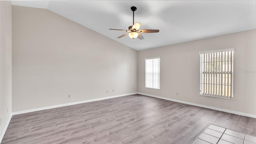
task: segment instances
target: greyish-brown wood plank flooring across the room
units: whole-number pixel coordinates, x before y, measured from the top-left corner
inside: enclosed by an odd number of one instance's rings
[[[139,94],[12,116],[1,144],[188,144],[208,124],[256,136],[256,119]]]

